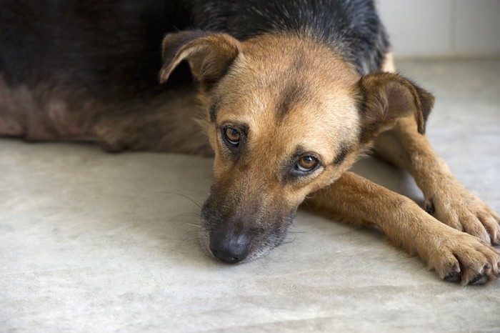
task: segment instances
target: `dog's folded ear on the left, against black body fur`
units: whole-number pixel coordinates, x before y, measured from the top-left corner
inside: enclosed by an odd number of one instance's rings
[[[242,44],[228,34],[182,31],[165,36],[162,44],[163,83],[181,61],[188,61],[193,75],[205,86],[219,81],[241,52]]]

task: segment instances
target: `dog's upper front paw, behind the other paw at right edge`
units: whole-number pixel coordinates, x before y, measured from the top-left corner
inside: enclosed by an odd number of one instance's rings
[[[500,244],[500,217],[457,181],[436,191],[424,209],[454,229],[488,244]]]

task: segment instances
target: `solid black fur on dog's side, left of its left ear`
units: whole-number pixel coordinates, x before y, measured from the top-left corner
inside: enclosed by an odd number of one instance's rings
[[[184,1],[0,0],[1,76],[14,87],[56,82],[102,99],[150,94],[161,89],[161,39],[190,17]]]

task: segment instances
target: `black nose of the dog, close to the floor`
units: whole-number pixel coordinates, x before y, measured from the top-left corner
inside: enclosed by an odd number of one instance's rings
[[[222,262],[236,264],[249,255],[250,242],[244,234],[215,232],[210,237],[210,251]]]

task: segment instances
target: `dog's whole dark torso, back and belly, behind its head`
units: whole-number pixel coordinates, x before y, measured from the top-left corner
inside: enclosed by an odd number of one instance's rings
[[[113,151],[206,152],[206,144],[184,147],[180,134],[169,136],[176,130],[169,124],[196,110],[177,110],[181,102],[171,97],[192,83],[186,64],[158,83],[168,32],[194,28],[241,40],[300,34],[359,74],[379,69],[388,47],[371,0],[1,0],[0,7],[0,135],[92,140]]]

